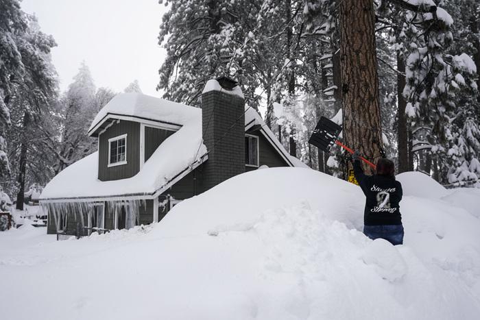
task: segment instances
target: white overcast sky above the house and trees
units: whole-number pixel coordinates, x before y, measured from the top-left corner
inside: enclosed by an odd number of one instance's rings
[[[97,88],[120,92],[138,79],[143,93],[160,95],[155,88],[165,51],[157,36],[165,5],[157,0],[23,0],[21,5],[58,44],[52,58],[60,89],[84,60]]]

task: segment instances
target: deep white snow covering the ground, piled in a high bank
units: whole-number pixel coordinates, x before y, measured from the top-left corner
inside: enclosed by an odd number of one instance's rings
[[[357,186],[309,169],[245,173],[130,231],[0,233],[1,318],[479,319],[480,190],[398,180],[397,247],[359,231]]]

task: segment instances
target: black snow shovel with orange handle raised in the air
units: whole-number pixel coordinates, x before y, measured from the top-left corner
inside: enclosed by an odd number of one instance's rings
[[[330,119],[326,119],[324,116],[320,118],[318,121],[315,130],[313,130],[313,134],[309,139],[309,143],[318,147],[318,149],[329,153],[330,149],[333,145],[339,145],[340,147],[346,149],[346,151],[350,153],[354,153],[352,149],[341,143],[337,140],[338,135],[341,132],[341,127],[337,125],[337,123],[331,121]],[[367,159],[360,157],[363,162],[368,164],[373,169],[376,169],[376,165],[372,162],[368,161]]]

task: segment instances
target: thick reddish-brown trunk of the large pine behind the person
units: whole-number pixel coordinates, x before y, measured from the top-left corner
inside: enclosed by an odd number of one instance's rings
[[[345,143],[376,162],[381,158],[383,145],[373,1],[341,1],[339,16]],[[348,168],[351,167],[349,163]],[[365,169],[372,173],[370,167]]]

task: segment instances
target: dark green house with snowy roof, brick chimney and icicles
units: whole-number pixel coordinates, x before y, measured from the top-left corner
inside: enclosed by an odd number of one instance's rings
[[[98,151],[56,175],[40,196],[49,233],[79,223],[112,230],[160,221],[182,199],[234,175],[301,165],[224,77],[207,82],[202,108],[119,94],[88,135]]]

